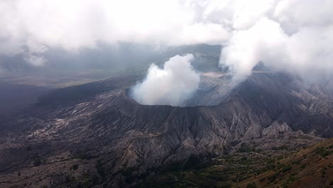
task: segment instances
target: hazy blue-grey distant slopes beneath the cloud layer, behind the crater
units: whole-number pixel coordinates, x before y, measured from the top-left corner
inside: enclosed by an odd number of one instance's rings
[[[76,53],[50,48],[43,53],[43,57],[47,60],[44,66],[26,63],[22,55],[0,56],[0,70],[7,73],[6,79],[13,77],[15,79],[11,80],[17,81],[23,77],[26,80],[46,82],[53,86],[54,82],[61,83],[66,79],[103,79],[120,72],[145,73],[151,63],[161,65],[177,54],[193,53],[196,58],[192,65],[196,70],[219,71],[218,58],[221,48],[221,45],[207,44],[157,48],[139,43],[122,42],[117,45],[98,43],[96,48],[83,48]],[[38,76],[43,77],[43,80],[36,79]]]

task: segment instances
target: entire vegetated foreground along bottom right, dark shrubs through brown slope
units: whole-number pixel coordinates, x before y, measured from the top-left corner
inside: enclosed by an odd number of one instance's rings
[[[137,187],[333,187],[333,139],[295,151],[243,151],[184,162]]]

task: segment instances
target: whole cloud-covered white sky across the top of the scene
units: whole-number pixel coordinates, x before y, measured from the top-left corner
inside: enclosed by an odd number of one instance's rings
[[[333,71],[332,0],[2,0],[0,56],[44,66],[51,48],[77,53],[120,41],[221,44],[235,80],[259,62],[300,75]],[[181,54],[180,54],[181,55]]]

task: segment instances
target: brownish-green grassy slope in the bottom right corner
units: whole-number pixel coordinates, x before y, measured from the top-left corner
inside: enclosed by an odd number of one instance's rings
[[[240,187],[333,187],[333,139],[275,163],[277,168],[240,182]]]

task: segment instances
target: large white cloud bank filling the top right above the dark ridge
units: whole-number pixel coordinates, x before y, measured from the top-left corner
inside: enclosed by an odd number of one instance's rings
[[[306,77],[332,73],[333,13],[328,7],[333,1],[268,2],[255,19],[233,22],[235,30],[221,51],[220,65],[227,66],[235,80],[250,75],[259,61]]]

